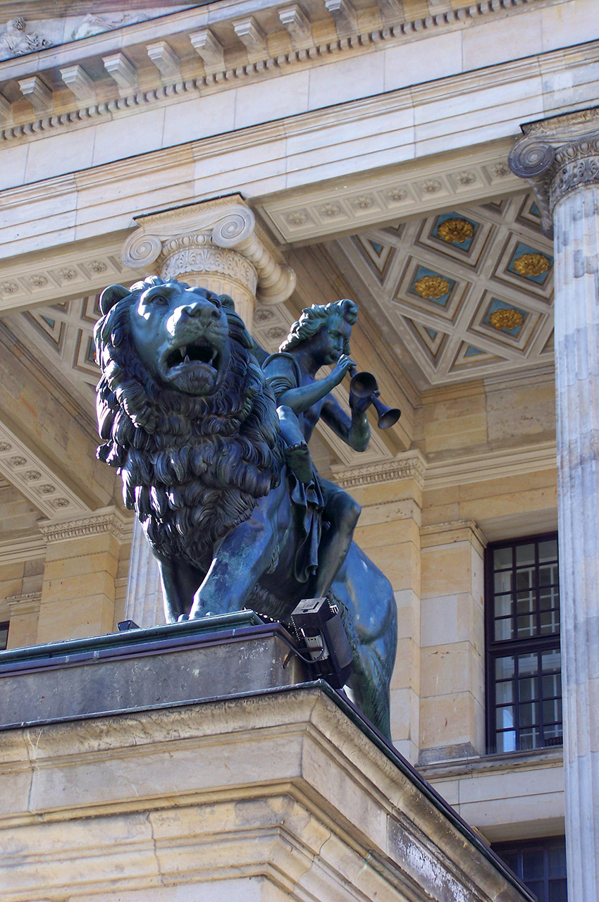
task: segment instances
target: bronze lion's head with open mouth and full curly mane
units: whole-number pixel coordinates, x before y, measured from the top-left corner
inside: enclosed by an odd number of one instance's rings
[[[151,276],[100,298],[97,456],[152,546],[204,566],[277,484],[276,405],[233,302]]]

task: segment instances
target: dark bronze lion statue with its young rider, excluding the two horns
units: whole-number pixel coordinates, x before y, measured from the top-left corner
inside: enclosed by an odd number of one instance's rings
[[[206,289],[150,277],[106,289],[101,309],[98,456],[158,560],[166,620],[245,607],[289,623],[302,598],[328,593],[354,651],[348,686],[389,736],[392,587],[352,541],[359,506],[307,447],[320,417],[368,444],[368,401],[350,398],[350,417],[330,395],[355,366],[353,302],[304,311],[265,361],[231,299]]]

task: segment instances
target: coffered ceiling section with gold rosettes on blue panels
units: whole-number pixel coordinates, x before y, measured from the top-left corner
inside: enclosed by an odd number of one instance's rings
[[[420,388],[553,363],[553,246],[534,198],[456,207],[328,250]]]

